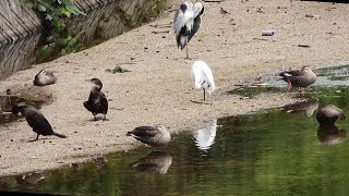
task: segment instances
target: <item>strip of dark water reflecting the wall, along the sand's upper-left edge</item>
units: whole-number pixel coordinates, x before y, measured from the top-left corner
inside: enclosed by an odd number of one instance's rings
[[[112,37],[148,22],[165,9],[165,1],[109,1],[86,11],[67,24],[67,35],[52,36],[37,33],[0,47],[0,81],[33,64],[52,61],[61,56],[96,46]],[[46,30],[47,32],[47,30]]]

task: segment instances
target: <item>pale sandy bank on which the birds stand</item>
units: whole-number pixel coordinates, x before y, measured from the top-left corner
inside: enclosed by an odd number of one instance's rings
[[[298,99],[280,93],[240,100],[227,91],[289,68],[348,61],[347,4],[255,0],[204,5],[203,24],[189,45],[192,60],[184,60],[185,50],[177,49],[173,36],[152,33],[164,30],[154,25],[169,24],[174,14],[170,12],[104,44],[1,81],[2,93],[11,89],[24,97],[50,100],[40,112],[55,131],[68,138],[40,136],[39,140],[27,143],[36,134],[24,119],[1,125],[0,175],[56,169],[134,148],[141,144],[124,134],[139,125],[163,123],[177,133],[200,128],[207,119],[282,107]],[[231,14],[220,14],[220,7]],[[262,37],[262,30],[267,28],[276,28],[276,34]],[[214,72],[217,90],[207,96],[212,105],[191,101],[202,99],[202,91],[194,89],[190,75],[195,60],[204,60]],[[116,65],[131,72],[106,71]],[[41,69],[53,71],[57,83],[33,86],[34,76]],[[84,81],[92,77],[104,84],[109,121],[92,121],[93,115],[83,107],[92,87]]]

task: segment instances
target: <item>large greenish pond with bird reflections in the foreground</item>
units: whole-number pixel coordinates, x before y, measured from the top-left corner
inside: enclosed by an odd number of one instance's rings
[[[306,89],[306,102],[206,120],[201,130],[173,134],[170,145],[161,148],[139,147],[84,164],[2,177],[0,191],[68,195],[347,195],[349,123],[338,120],[335,126],[320,127],[315,119],[317,108],[328,103],[349,111],[347,86],[321,82],[322,77],[346,75],[346,71],[316,71],[320,82]],[[255,89],[274,82],[244,91],[256,96]],[[280,85],[274,88],[285,90],[286,83]]]

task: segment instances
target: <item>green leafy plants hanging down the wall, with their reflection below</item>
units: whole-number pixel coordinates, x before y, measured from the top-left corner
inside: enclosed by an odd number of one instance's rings
[[[34,62],[47,62],[57,57],[79,51],[83,48],[77,36],[68,35],[65,26],[74,15],[85,15],[70,0],[20,0],[25,9],[36,10],[45,20],[44,45],[36,51],[24,69]]]

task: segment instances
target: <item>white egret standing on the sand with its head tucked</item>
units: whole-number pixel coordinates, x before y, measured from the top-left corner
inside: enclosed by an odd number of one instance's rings
[[[192,65],[192,76],[194,77],[195,88],[204,90],[204,100],[205,100],[205,90],[208,94],[214,93],[216,86],[214,81],[214,75],[209,69],[209,66],[204,61],[195,61]]]

